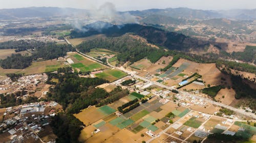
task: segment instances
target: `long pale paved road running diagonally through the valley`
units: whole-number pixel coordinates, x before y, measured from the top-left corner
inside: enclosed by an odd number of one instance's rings
[[[65,39],[65,40],[67,41],[67,43],[71,44],[67,39]],[[71,45],[72,45],[72,44],[71,44]],[[72,46],[73,46],[73,45],[72,45]],[[73,46],[73,47],[74,47],[74,46]],[[77,49],[76,49],[76,50],[77,50]],[[79,52],[79,50],[77,50],[77,51]],[[79,53],[81,53],[81,52],[79,52]],[[84,56],[87,56],[88,58],[90,58],[90,56],[87,55],[87,54],[84,54],[84,53],[81,53],[81,54],[84,55]],[[97,59],[95,59],[95,58],[93,58],[93,57],[91,57],[91,59],[92,59],[92,60],[95,60],[95,61],[97,61],[97,62],[99,62],[99,60],[97,60]],[[100,63],[101,63],[101,61],[100,61]],[[163,84],[161,84],[161,83],[159,83],[159,82],[151,81],[151,80],[149,80],[149,79],[146,79],[146,78],[144,78],[144,77],[141,77],[141,76],[139,76],[139,75],[136,75],[136,73],[135,73],[134,71],[129,71],[129,70],[126,70],[126,69],[124,69],[124,68],[122,68],[122,67],[115,67],[115,66],[109,64],[108,60],[107,60],[107,63],[108,63],[108,65],[109,65],[110,67],[119,69],[119,70],[121,70],[121,71],[123,71],[123,72],[125,72],[125,73],[127,73],[127,74],[130,74],[131,76],[133,76],[133,77],[135,77],[135,78],[139,78],[139,79],[141,79],[141,80],[154,83],[154,84],[158,85],[158,86],[161,87],[161,88],[165,88],[165,89],[168,89],[168,90],[176,90],[176,89],[174,89],[174,88],[172,88],[172,87],[168,87],[168,86],[163,85]],[[212,101],[211,99],[208,99],[208,98],[196,96],[196,95],[191,94],[191,93],[187,93],[187,92],[180,91],[180,90],[178,90],[178,91],[179,91],[179,93],[181,93],[181,94],[183,94],[183,95],[192,96],[192,97],[195,97],[195,98],[198,98],[198,99],[202,99],[202,100],[204,100],[204,101],[210,102],[211,104],[214,104],[214,105],[217,105],[217,106],[220,106],[220,107],[224,107],[224,108],[230,109],[230,110],[232,110],[232,111],[234,111],[234,112],[237,112],[237,113],[239,113],[239,114],[241,114],[241,115],[250,117],[250,118],[252,118],[252,119],[256,119],[256,115],[255,115],[254,113],[246,112],[245,110],[237,109],[237,108],[234,108],[234,107],[231,107],[231,106],[222,104],[222,103],[220,103],[220,102]]]

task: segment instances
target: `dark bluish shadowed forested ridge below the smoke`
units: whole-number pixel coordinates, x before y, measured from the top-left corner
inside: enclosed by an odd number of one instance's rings
[[[209,43],[200,41],[198,39],[187,37],[183,34],[175,32],[166,32],[156,27],[144,26],[140,24],[125,24],[125,25],[112,25],[108,28],[96,30],[92,26],[84,26],[87,32],[74,30],[71,33],[71,38],[87,37],[95,34],[105,34],[107,37],[119,37],[125,33],[133,33],[145,38],[148,42],[164,46],[168,49],[177,49],[187,51],[190,48],[204,48]]]

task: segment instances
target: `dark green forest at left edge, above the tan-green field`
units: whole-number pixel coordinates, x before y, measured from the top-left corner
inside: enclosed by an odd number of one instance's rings
[[[39,58],[42,60],[52,60],[67,55],[68,51],[75,50],[68,44],[57,44],[53,42],[44,43],[40,41],[9,41],[3,45],[4,46],[2,46],[2,48],[18,48],[21,50],[33,49],[31,56],[12,54],[6,59],[0,60],[0,65],[4,69],[24,69],[29,67],[33,60],[37,60]]]

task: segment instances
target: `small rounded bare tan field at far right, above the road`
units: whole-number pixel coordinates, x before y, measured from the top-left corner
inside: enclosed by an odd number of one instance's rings
[[[230,105],[233,100],[236,100],[234,96],[236,95],[236,92],[233,89],[221,89],[215,99],[223,104]],[[222,98],[224,96],[224,98]]]

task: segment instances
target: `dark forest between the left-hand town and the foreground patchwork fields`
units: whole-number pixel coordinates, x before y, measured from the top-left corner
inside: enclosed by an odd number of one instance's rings
[[[48,81],[57,78],[54,88],[50,88],[47,94],[48,100],[53,100],[62,105],[65,112],[59,114],[51,123],[54,133],[58,136],[56,142],[78,142],[78,136],[82,126],[73,113],[89,105],[101,106],[112,103],[129,94],[129,91],[115,88],[112,92],[95,88],[97,85],[108,82],[101,78],[83,78],[78,73],[72,73],[71,68],[60,68],[58,73],[47,73]]]

